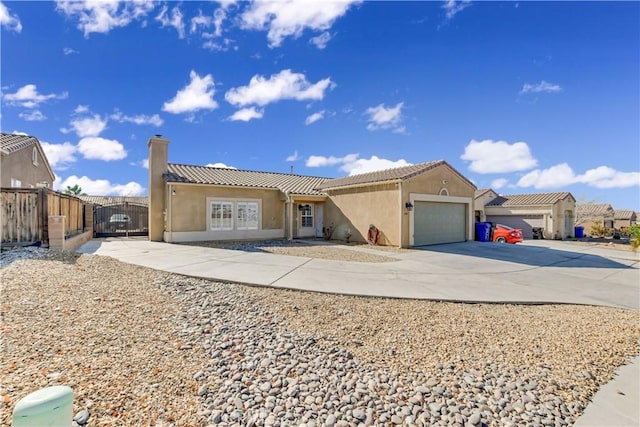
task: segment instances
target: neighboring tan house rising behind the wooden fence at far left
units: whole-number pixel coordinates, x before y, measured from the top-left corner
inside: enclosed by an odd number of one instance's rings
[[[55,175],[34,136],[0,133],[0,186],[53,188]]]

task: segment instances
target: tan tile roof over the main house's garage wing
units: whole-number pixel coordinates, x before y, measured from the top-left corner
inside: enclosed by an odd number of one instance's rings
[[[453,169],[460,177],[469,183],[469,185],[475,187],[471,181],[465,178],[462,174],[456,171],[451,165],[444,160],[436,160],[433,162],[419,163],[417,165],[402,166],[399,168],[385,169],[375,172],[362,173],[358,175],[346,176],[344,178],[329,179],[322,183],[320,189],[329,190],[339,187],[350,187],[357,185],[366,185],[373,183],[381,183],[388,181],[404,181],[412,178],[416,175],[420,175],[423,172],[434,169],[441,165],[447,165]]]

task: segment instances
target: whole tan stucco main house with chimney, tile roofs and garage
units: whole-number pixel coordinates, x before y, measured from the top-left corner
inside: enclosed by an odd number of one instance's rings
[[[168,144],[149,140],[150,240],[473,240],[476,188],[444,161],[330,179],[168,163]]]

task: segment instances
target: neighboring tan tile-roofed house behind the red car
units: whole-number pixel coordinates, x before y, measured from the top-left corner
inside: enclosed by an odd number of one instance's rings
[[[568,192],[500,195],[484,206],[486,221],[519,228],[525,239],[533,238],[534,228],[542,228],[546,239],[573,237],[575,211]]]

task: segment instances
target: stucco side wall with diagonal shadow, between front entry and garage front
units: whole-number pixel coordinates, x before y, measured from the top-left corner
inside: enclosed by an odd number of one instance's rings
[[[333,238],[366,242],[371,224],[380,230],[378,243],[397,246],[400,241],[400,198],[398,184],[370,185],[329,190],[324,205],[324,226],[332,227]]]

